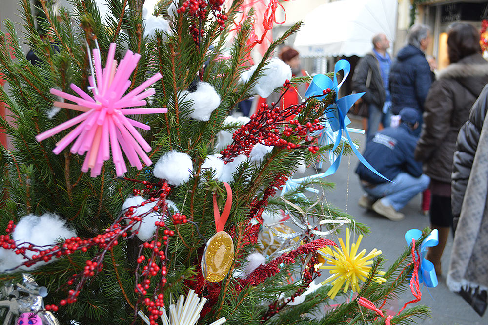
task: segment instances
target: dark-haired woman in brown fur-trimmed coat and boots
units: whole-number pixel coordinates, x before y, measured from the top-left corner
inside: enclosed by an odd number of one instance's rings
[[[481,55],[480,34],[470,24],[459,23],[449,32],[450,65],[432,84],[425,103],[424,125],[415,149],[430,181],[430,224],[439,230],[439,244],[431,247],[427,260],[441,273],[441,256],[452,226],[451,172],[456,138],[468,121],[469,110],[488,83],[488,62]]]

